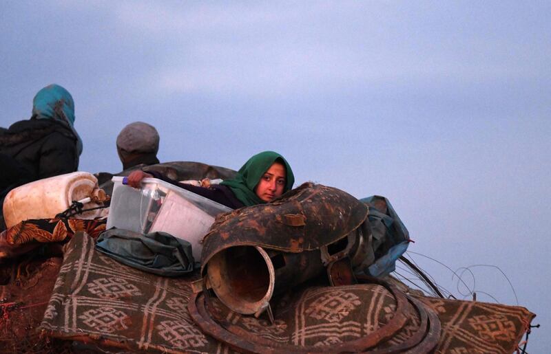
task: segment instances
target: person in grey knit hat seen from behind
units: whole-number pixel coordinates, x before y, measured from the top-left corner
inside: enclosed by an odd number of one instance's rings
[[[139,164],[158,164],[159,133],[144,122],[130,123],[116,137],[116,151],[123,170]]]

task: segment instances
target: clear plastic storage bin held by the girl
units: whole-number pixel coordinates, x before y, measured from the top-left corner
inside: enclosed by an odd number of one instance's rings
[[[214,218],[231,208],[222,206],[183,188],[156,178],[144,178],[141,189],[123,184],[113,177],[113,193],[107,229],[134,232],[164,231],[191,243],[195,261],[200,261],[200,240],[209,231]]]

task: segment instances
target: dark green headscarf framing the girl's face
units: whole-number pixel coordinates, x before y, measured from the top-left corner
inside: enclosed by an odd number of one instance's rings
[[[237,199],[242,201],[245,206],[266,203],[256,195],[254,188],[275,160],[282,162],[285,166],[287,176],[283,192],[287,192],[293,188],[293,184],[295,183],[293,170],[291,170],[291,166],[289,166],[289,163],[282,155],[273,151],[264,151],[254,155],[239,169],[235,178],[223,181],[221,184],[228,186]]]

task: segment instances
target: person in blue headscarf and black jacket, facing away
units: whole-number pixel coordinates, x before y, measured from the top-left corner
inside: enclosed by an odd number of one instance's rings
[[[30,120],[15,122],[0,131],[3,192],[30,181],[76,171],[82,141],[73,124],[74,101],[69,91],[59,85],[41,89],[32,101]]]

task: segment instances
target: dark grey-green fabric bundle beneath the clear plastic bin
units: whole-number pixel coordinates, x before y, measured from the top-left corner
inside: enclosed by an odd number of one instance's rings
[[[167,232],[140,234],[112,228],[98,237],[96,250],[159,276],[183,276],[194,270],[191,244]]]

